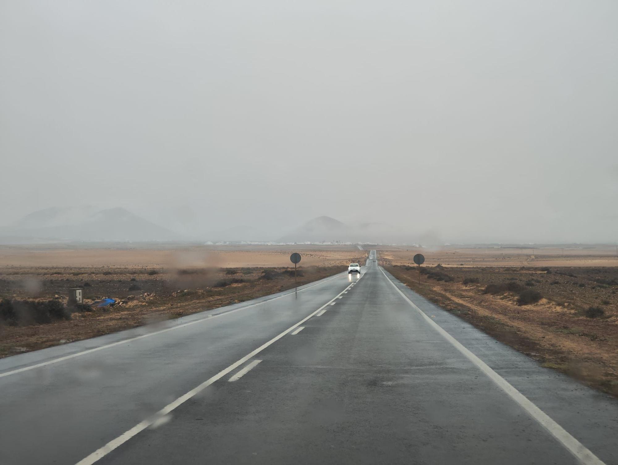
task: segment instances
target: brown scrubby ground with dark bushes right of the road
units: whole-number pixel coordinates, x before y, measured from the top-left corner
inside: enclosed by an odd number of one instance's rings
[[[618,268],[391,266],[397,279],[515,349],[618,396]]]

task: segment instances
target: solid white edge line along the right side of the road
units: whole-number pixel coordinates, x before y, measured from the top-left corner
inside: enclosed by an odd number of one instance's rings
[[[449,341],[457,350],[459,350],[464,356],[470,360],[473,364],[475,364],[489,379],[491,379],[496,385],[501,388],[507,395],[509,395],[512,400],[520,405],[533,419],[535,419],[544,429],[548,430],[548,432],[558,440],[570,453],[572,453],[575,458],[580,461],[580,463],[584,465],[605,465],[603,461],[601,461],[596,455],[594,455],[586,446],[580,443],[577,439],[575,439],[572,435],[567,432],[561,425],[557,424],[554,420],[552,420],[548,414],[544,413],[540,408],[538,408],[532,401],[528,400],[528,398],[520,393],[517,389],[515,389],[510,383],[501,377],[501,375],[497,374],[491,367],[489,367],[485,362],[483,362],[480,358],[478,358],[475,354],[473,354],[470,350],[465,348],[462,343],[460,343],[457,339],[452,337],[446,330],[442,329],[442,327],[437,324],[434,320],[428,317],[425,312],[423,312],[420,308],[418,308],[409,298],[405,295],[392,280],[384,273],[383,269],[380,269],[384,277],[392,284],[392,286],[399,292],[405,300],[412,306],[413,309],[418,311],[421,316],[425,319],[428,324],[433,327],[442,337],[444,337],[447,341]]]

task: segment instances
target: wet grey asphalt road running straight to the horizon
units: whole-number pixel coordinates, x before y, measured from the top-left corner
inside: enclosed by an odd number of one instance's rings
[[[618,464],[618,402],[392,278],[0,360],[0,463]]]

